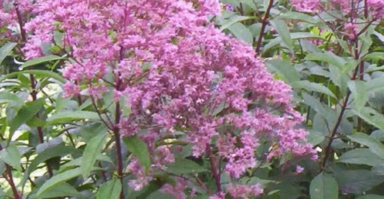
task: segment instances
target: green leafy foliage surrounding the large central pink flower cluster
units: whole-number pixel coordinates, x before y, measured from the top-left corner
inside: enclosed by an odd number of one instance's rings
[[[296,109],[306,115],[308,141],[319,156],[267,164],[260,159],[240,181],[262,185],[264,193],[257,198],[383,199],[383,21],[361,17],[351,38],[337,10],[298,12],[285,0],[221,2],[222,15],[212,21],[253,45],[274,77],[292,87]],[[169,175],[132,190],[129,171],[124,177],[117,173],[114,137],[92,101],[79,104],[61,95],[65,55],[43,46],[45,57],[20,62],[19,44],[0,41],[0,198],[114,199],[124,190],[127,199],[165,199],[170,196],[158,190],[168,176],[198,176],[203,182],[196,178],[195,183],[215,190],[209,162],[188,153],[167,168]],[[143,141],[128,137],[123,143],[124,157],[138,157],[149,167]],[[295,173],[296,165],[304,171]],[[225,174],[221,179],[229,183]],[[191,189],[197,198],[208,198],[200,187]]]

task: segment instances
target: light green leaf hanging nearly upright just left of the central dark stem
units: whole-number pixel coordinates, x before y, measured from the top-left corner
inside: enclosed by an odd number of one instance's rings
[[[91,170],[97,161],[97,156],[101,154],[101,150],[103,149],[105,138],[107,134],[101,133],[95,137],[93,137],[84,149],[83,160],[81,163],[81,174],[84,179],[87,179],[91,174]]]

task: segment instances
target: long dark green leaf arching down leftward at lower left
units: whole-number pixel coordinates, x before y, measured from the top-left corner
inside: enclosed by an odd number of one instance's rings
[[[21,185],[24,186],[26,181],[28,180],[29,175],[36,170],[37,166],[40,163],[57,156],[65,156],[71,153],[75,153],[78,150],[71,146],[65,146],[62,144],[56,145],[52,148],[48,148],[41,153],[37,154],[32,163],[25,169],[23,179],[21,180]]]

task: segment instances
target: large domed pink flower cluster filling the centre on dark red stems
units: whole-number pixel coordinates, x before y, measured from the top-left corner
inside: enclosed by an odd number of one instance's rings
[[[169,137],[191,143],[196,158],[214,151],[234,179],[256,166],[260,139],[274,146],[268,159],[314,155],[307,132],[297,128],[303,117],[290,104],[291,88],[273,79],[251,46],[214,27],[207,16],[220,9],[218,0],[36,0],[24,51],[29,59],[42,56],[40,45],[61,32],[70,57],[65,95],[98,100],[112,91],[131,108],[117,127],[147,143],[152,163],[148,173],[137,160],[129,163],[135,190],[175,161],[180,146],[159,146]],[[175,181],[162,191],[185,198],[188,182]],[[234,184],[228,192],[262,190]]]

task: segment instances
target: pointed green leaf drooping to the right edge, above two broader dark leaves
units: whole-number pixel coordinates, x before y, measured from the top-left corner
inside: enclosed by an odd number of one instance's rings
[[[384,145],[375,138],[370,137],[365,133],[359,132],[353,135],[348,135],[347,137],[354,142],[368,146],[373,153],[384,159]]]

